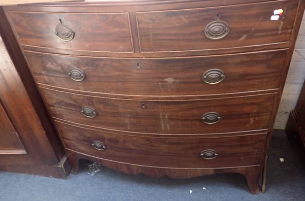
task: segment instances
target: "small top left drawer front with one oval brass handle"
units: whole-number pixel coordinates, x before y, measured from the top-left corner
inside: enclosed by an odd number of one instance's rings
[[[8,15],[21,45],[79,51],[133,52],[128,13],[8,11]]]

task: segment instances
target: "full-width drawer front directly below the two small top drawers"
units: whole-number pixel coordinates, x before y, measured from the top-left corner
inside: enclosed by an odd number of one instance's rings
[[[276,89],[286,53],[279,50],[224,56],[120,59],[25,51],[38,83],[102,94],[142,96]],[[69,76],[69,72],[74,75]]]

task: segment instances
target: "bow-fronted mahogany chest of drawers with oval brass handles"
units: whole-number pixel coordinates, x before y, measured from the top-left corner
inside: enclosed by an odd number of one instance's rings
[[[258,181],[302,0],[5,7],[74,173]]]

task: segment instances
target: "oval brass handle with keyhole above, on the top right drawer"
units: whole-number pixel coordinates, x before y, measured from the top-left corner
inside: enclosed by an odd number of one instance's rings
[[[205,26],[204,33],[208,39],[220,40],[228,35],[230,28],[226,22],[220,20],[220,14],[217,14],[215,19]]]

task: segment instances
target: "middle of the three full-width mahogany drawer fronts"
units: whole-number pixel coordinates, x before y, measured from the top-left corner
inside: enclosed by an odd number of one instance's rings
[[[42,87],[40,90],[55,118],[141,133],[193,134],[266,129],[275,101],[275,94],[197,101],[136,101],[78,95]],[[203,115],[205,119],[202,119]]]

